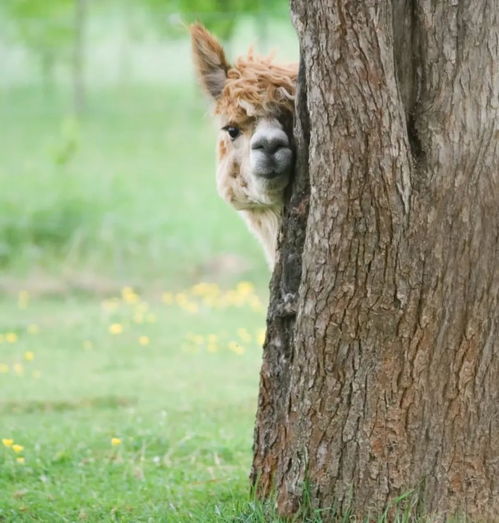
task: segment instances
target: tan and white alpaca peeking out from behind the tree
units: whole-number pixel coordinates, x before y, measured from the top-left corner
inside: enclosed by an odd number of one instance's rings
[[[194,63],[218,118],[217,189],[276,258],[284,189],[293,169],[292,124],[297,65],[277,65],[250,50],[231,66],[218,40],[190,27]]]

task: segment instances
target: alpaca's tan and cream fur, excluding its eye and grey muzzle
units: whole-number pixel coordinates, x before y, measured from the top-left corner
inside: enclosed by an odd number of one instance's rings
[[[227,132],[220,132],[218,192],[258,236],[273,266],[287,180],[258,185],[249,174],[249,143],[259,120],[287,121],[290,127],[298,67],[278,65],[272,56],[256,56],[251,50],[231,66],[218,40],[203,26],[195,24],[190,31],[197,74],[215,101],[220,127],[235,126],[242,133],[235,148]]]

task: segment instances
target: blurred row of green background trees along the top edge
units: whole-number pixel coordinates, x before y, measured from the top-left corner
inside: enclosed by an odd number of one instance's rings
[[[161,39],[185,39],[185,25],[200,21],[227,43],[242,20],[251,20],[266,47],[269,23],[286,19],[287,13],[286,0],[4,0],[0,5],[6,42],[35,58],[45,91],[54,86],[57,69],[71,78],[75,113],[85,106],[89,24],[105,20],[116,33],[121,23],[119,54],[126,70],[133,43],[153,31]]]

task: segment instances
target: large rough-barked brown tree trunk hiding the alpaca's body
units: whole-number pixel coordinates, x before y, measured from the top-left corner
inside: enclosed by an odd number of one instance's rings
[[[436,519],[497,521],[497,3],[292,10],[297,165],[253,483],[283,515],[306,497],[369,518],[410,493]]]

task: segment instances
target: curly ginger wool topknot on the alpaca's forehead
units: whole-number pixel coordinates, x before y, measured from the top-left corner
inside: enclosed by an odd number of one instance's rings
[[[255,56],[250,51],[227,71],[215,113],[237,121],[283,110],[292,112],[297,74],[296,64],[274,64],[272,56]]]

